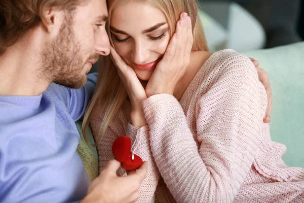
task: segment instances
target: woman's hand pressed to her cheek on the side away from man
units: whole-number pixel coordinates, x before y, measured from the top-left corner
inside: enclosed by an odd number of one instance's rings
[[[182,13],[164,57],[145,88],[148,97],[160,93],[173,94],[176,84],[189,65],[192,46],[191,19],[186,13]]]

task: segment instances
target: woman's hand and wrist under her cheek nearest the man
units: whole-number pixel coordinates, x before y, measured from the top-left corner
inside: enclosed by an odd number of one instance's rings
[[[131,123],[134,126],[142,127],[146,125],[141,103],[147,99],[145,90],[136,76],[136,73],[125,63],[121,56],[111,46],[111,58],[118,69],[119,76],[124,83],[132,105]]]

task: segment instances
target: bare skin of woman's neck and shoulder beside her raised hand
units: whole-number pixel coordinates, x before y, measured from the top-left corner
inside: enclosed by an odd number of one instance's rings
[[[196,74],[200,71],[201,67],[205,64],[206,60],[212,55],[211,52],[207,51],[194,51],[191,53],[190,63],[183,75],[180,79],[178,85],[174,90],[174,97],[177,100],[180,100],[186,91],[187,87],[194,79]]]

